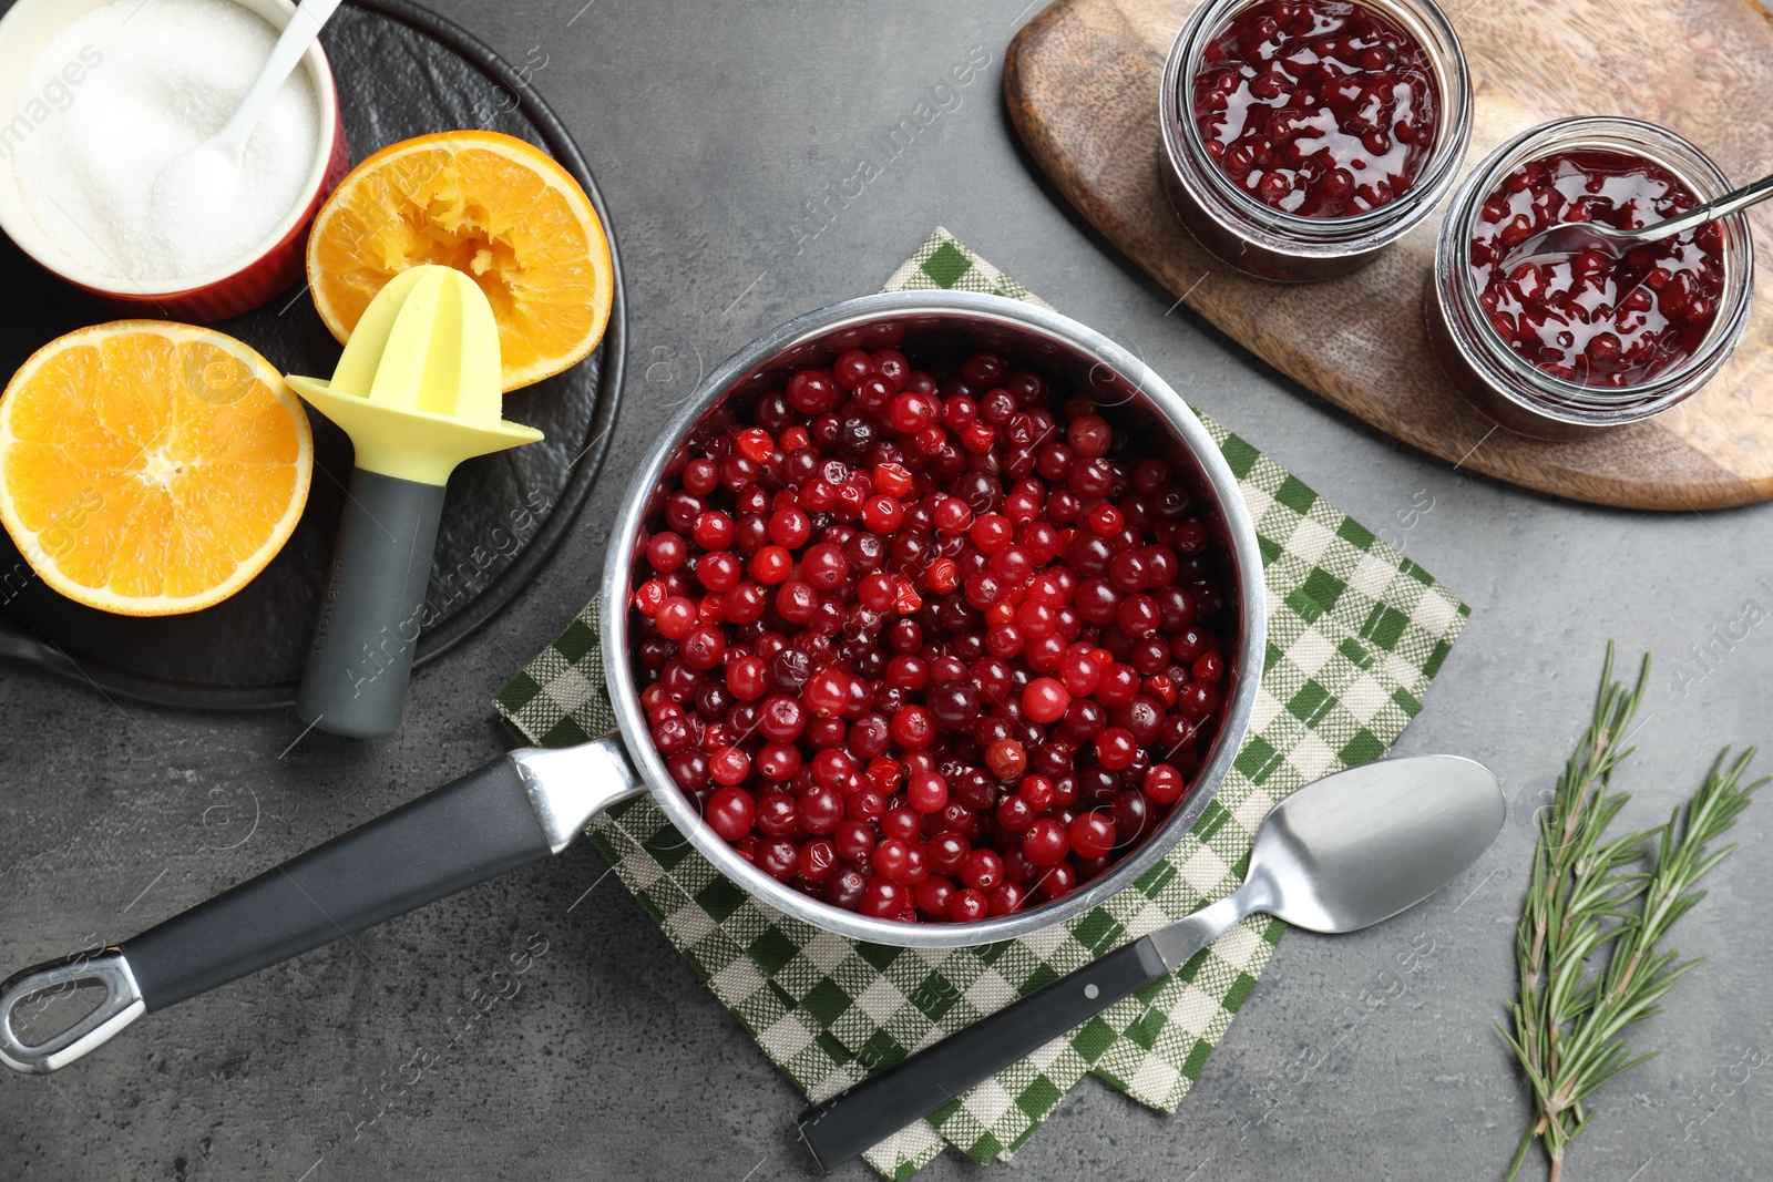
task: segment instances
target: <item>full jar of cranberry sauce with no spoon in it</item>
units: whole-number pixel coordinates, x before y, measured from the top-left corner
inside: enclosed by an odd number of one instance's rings
[[[1452,190],[1472,82],[1434,0],[1207,0],[1163,67],[1163,188],[1222,262],[1347,275]]]

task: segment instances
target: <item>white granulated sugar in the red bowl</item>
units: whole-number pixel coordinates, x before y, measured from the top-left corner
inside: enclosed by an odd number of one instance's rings
[[[87,73],[11,156],[20,198],[55,250],[105,278],[165,282],[261,245],[301,200],[319,145],[319,105],[301,66],[254,129],[225,216],[156,225],[151,195],[168,161],[222,129],[275,43],[271,25],[230,0],[117,0],[62,30],[27,71],[16,105],[55,90],[69,62]]]

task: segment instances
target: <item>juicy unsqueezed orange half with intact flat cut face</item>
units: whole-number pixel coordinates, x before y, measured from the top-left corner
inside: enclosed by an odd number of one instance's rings
[[[0,395],[0,521],[55,590],[103,611],[222,603],[301,517],[314,438],[245,344],[117,321],[37,349]]]

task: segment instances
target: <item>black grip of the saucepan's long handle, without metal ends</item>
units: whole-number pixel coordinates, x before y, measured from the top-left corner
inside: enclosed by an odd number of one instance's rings
[[[550,854],[509,757],[124,941],[147,1010]]]

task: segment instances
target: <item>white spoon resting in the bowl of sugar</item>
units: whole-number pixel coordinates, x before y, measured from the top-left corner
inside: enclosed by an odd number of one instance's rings
[[[301,0],[282,35],[271,46],[271,57],[254,80],[246,97],[234,115],[213,136],[174,156],[154,177],[151,213],[156,225],[207,225],[234,202],[239,188],[239,165],[246,154],[246,140],[259,126],[277,90],[289,78],[321,27],[337,11],[340,0]]]

